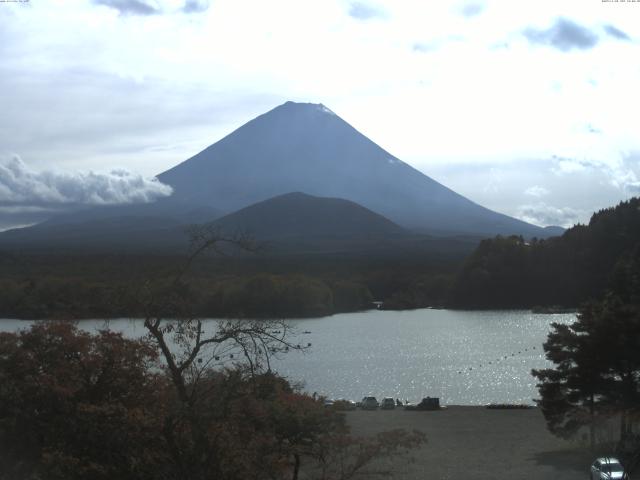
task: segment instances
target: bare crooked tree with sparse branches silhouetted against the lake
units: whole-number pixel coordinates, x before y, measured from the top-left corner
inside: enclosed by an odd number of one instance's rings
[[[271,371],[279,353],[303,350],[290,341],[292,330],[281,320],[204,321],[193,312],[187,277],[199,257],[207,253],[255,252],[259,246],[246,235],[226,235],[210,225],[189,230],[191,246],[180,269],[164,288],[144,286],[144,326],[157,344],[175,393],[176,408],[165,421],[165,438],[185,479],[219,476],[215,438],[202,421],[202,402],[212,394],[204,381],[212,369],[244,366],[251,375]],[[169,318],[167,318],[169,314]],[[186,428],[185,428],[186,426]],[[190,448],[185,448],[187,433]]]

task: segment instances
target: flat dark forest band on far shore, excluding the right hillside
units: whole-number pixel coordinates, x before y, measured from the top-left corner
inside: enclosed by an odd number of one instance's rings
[[[461,255],[199,258],[183,288],[201,317],[291,318],[373,308],[444,305]],[[162,288],[179,255],[0,254],[0,317],[142,316],[145,291]],[[161,312],[169,314],[170,312]]]

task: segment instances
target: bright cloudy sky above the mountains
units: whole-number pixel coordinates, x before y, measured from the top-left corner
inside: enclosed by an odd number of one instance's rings
[[[287,100],[471,200],[571,226],[640,192],[640,1],[0,2],[0,229],[153,201]]]

